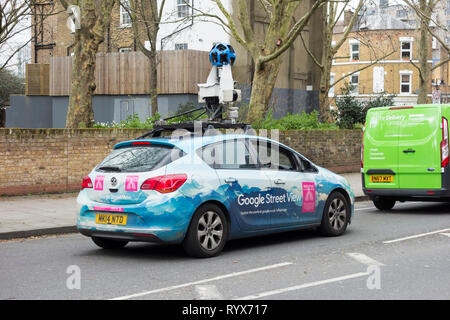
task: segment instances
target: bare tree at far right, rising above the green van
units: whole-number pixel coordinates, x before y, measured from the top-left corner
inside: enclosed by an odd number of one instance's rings
[[[433,70],[441,67],[442,65],[448,63],[450,61],[450,50],[449,46],[445,43],[445,41],[437,34],[436,30],[430,26],[433,21],[432,14],[436,10],[436,6],[442,0],[404,0],[408,7],[410,7],[417,15],[418,19],[418,43],[417,43],[417,56],[418,56],[418,64],[414,63],[410,60],[411,64],[419,71],[419,94],[417,98],[417,103],[427,103],[428,101],[428,89],[430,86],[431,73]],[[443,26],[437,25],[436,28],[446,28]],[[430,44],[430,36],[436,38],[436,40],[440,43],[442,48],[447,51],[448,57],[438,64],[431,66],[428,63],[428,59],[430,56],[429,44]]]

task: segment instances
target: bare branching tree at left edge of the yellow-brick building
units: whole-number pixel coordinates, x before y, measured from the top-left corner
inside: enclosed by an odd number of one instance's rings
[[[351,76],[354,73],[360,72],[362,70],[365,70],[374,64],[378,63],[379,61],[385,59],[392,53],[394,53],[396,50],[392,46],[392,50],[388,53],[383,52],[383,48],[373,48],[369,41],[361,41],[363,45],[367,46],[369,50],[371,50],[371,62],[365,66],[362,66],[360,68],[356,68],[349,74],[335,80],[333,83],[330,83],[330,73],[331,73],[331,67],[332,62],[336,58],[336,54],[338,53],[339,49],[342,47],[342,45],[347,41],[347,39],[350,37],[351,33],[355,33],[358,35],[358,38],[361,40],[364,38],[364,35],[361,33],[358,33],[358,31],[354,31],[353,27],[359,23],[358,18],[360,17],[361,9],[365,2],[360,0],[358,3],[358,6],[356,7],[355,11],[352,12],[353,16],[349,20],[348,24],[345,26],[345,30],[338,41],[336,41],[333,44],[333,33],[336,27],[336,24],[341,20],[343,14],[345,11],[349,9],[349,2],[348,0],[344,1],[329,1],[326,6],[324,7],[324,10],[326,11],[326,17],[323,19],[323,25],[322,25],[322,34],[323,34],[323,42],[322,42],[322,56],[319,59],[316,57],[311,50],[308,48],[308,45],[305,43],[302,35],[300,35],[303,46],[305,47],[306,51],[308,52],[309,56],[312,58],[314,63],[320,68],[320,89],[319,89],[319,111],[320,111],[320,119],[323,122],[331,122],[332,117],[330,115],[330,106],[329,106],[329,98],[328,93],[330,89],[338,84],[339,82],[345,80],[349,76]],[[383,52],[380,55],[380,52]]]

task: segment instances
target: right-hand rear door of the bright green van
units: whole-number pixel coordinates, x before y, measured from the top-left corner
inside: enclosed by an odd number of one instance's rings
[[[400,188],[440,189],[441,109],[415,106],[401,111],[404,118],[398,140]]]

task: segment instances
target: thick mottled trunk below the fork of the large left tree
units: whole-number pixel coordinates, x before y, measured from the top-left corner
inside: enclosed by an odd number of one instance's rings
[[[95,90],[95,55],[99,43],[87,30],[80,30],[75,43],[66,128],[88,128],[94,121],[92,95]]]

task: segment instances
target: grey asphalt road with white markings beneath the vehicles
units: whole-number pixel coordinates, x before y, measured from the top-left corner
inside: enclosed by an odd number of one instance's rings
[[[78,234],[2,241],[0,299],[450,299],[449,270],[449,204],[360,202],[341,237],[235,240],[212,259]]]

